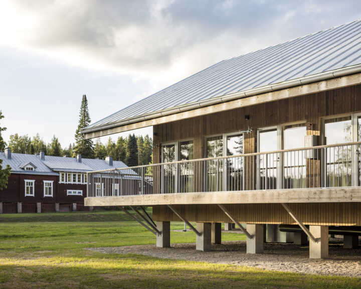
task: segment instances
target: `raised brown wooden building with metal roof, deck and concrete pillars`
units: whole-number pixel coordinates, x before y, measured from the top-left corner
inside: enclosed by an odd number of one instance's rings
[[[310,257],[326,257],[329,226],[361,226],[360,38],[354,21],[221,61],[86,127],[152,125],[154,164],[132,168],[135,190],[122,169],[89,173],[85,204],[152,206],[156,225],[133,208],[158,246],[171,221],[197,222],[200,250],[236,223],[249,253],[263,251],[265,224],[299,225],[295,241],[308,235]],[[120,194],[96,196],[99,183]]]

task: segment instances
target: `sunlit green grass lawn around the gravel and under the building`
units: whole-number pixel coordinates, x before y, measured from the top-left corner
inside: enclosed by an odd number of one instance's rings
[[[183,223],[171,223],[183,229]],[[222,233],[223,240],[245,239]],[[171,232],[172,243],[195,242]],[[357,278],[102,254],[89,247],[155,244],[120,211],[0,215],[0,288],[360,288]]]

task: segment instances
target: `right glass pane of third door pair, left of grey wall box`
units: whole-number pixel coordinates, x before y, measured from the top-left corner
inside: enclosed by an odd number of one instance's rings
[[[306,125],[304,123],[283,127],[283,149],[303,148]],[[298,189],[306,187],[306,159],[304,151],[283,153],[283,188]]]

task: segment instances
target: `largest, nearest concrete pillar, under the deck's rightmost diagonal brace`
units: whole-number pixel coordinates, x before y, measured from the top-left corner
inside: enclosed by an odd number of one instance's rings
[[[328,226],[309,226],[309,231],[317,242],[310,240],[310,258],[328,257]]]

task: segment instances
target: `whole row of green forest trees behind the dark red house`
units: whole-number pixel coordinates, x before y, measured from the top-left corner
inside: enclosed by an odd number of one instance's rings
[[[10,135],[8,147],[11,148],[12,152],[20,154],[44,152],[47,156],[57,157],[75,157],[80,154],[83,158],[88,159],[104,159],[106,156],[111,156],[113,160],[122,161],[127,166],[148,165],[152,162],[153,142],[149,135],[143,137],[129,134],[128,137],[118,137],[116,141],[109,137],[105,144],[98,138],[94,144],[92,139],[86,139],[84,134],[81,133],[83,128],[90,124],[90,121],[88,100],[86,95],[83,95],[79,123],[75,131],[75,143],[70,143],[68,147],[62,148],[59,138],[55,135],[49,143],[46,143],[39,133],[34,137],[29,137],[28,134],[19,135],[15,133]],[[2,141],[1,131],[0,141]],[[5,145],[4,142],[2,147],[5,147]],[[0,151],[4,151],[4,149]]]

